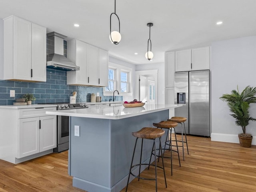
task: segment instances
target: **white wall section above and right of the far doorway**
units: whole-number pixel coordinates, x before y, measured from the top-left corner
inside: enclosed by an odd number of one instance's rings
[[[143,70],[158,70],[158,80],[157,80],[157,88],[158,88],[158,104],[164,104],[164,63],[157,64],[141,64],[136,65],[136,71]]]

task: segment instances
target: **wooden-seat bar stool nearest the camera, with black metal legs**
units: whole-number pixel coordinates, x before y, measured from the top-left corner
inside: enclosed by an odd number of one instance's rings
[[[127,185],[126,185],[126,192],[128,189],[128,184],[129,184],[129,179],[130,179],[130,175],[132,174],[132,176],[138,178],[138,180],[140,179],[144,179],[144,180],[155,180],[156,181],[156,192],[157,192],[157,177],[156,177],[156,167],[162,168],[164,170],[164,160],[162,158],[162,164],[163,166],[158,166],[156,165],[156,156],[155,156],[155,164],[153,166],[155,166],[155,178],[143,178],[140,177],[140,168],[139,168],[139,175],[136,176],[132,173],[132,168],[136,167],[136,166],[142,166],[142,165],[150,165],[149,164],[144,164],[141,163],[141,155],[142,155],[142,146],[143,146],[143,139],[150,139],[154,141],[154,148],[155,148],[155,154],[156,154],[156,138],[159,138],[159,142],[160,142],[160,150],[161,150],[161,156],[163,157],[162,154],[162,147],[161,147],[161,136],[164,134],[164,130],[160,130],[160,129],[156,129],[156,128],[150,128],[150,127],[144,127],[141,130],[137,131],[137,132],[132,132],[132,136],[136,137],[136,142],[135,142],[135,146],[134,146],[134,150],[133,150],[133,154],[132,154],[132,162],[131,162],[131,166],[130,166],[130,171],[129,171],[129,176],[128,176],[128,181],[127,181]],[[141,150],[140,150],[140,164],[136,164],[136,165],[132,165],[133,163],[133,159],[134,159],[134,153],[136,150],[136,144],[137,144],[137,140],[138,138],[142,138],[142,143],[141,143]],[[151,154],[152,156],[152,154]],[[151,159],[151,157],[150,157]],[[167,183],[166,183],[166,177],[165,177],[165,170],[164,170],[164,180],[165,180],[165,186],[167,188]]]

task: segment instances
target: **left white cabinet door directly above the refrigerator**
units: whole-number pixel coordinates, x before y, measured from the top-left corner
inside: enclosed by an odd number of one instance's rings
[[[191,49],[175,52],[175,72],[191,70]]]

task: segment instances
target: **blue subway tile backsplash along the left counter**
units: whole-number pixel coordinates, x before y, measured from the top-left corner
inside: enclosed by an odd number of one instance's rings
[[[15,98],[10,97],[10,90],[15,90]],[[69,102],[69,97],[76,91],[76,102],[90,102],[91,93],[100,93],[102,101],[109,101],[112,96],[103,96],[103,87],[67,85],[67,72],[47,69],[46,82],[19,82],[0,80],[0,105],[12,105],[16,98],[22,98],[25,93],[36,97],[32,104]],[[122,96],[115,100],[122,101]]]

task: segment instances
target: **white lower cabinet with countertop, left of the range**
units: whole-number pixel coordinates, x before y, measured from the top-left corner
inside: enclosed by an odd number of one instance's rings
[[[0,110],[0,159],[17,164],[57,147],[56,107]]]

